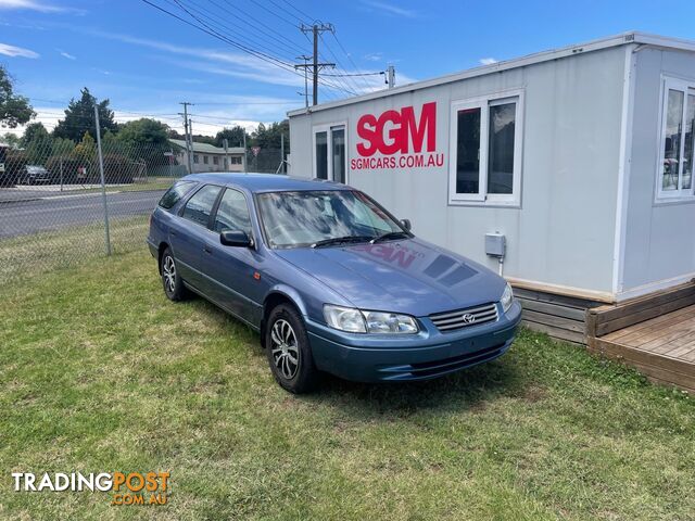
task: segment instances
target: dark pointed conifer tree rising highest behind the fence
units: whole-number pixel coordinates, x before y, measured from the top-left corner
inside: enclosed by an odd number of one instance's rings
[[[79,141],[85,132],[89,132],[89,136],[97,139],[97,134],[94,132],[94,105],[98,106],[101,132],[103,134],[106,130],[117,132],[118,125],[113,119],[113,111],[109,109],[109,100],[103,100],[97,104],[97,98],[91,96],[87,87],[81,89],[80,93],[79,100],[74,98],[70,100],[70,104],[65,109],[65,118],[58,122],[58,126],[53,130],[53,137]]]

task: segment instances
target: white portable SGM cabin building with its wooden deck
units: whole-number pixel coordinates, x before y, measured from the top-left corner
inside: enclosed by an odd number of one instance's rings
[[[292,174],[498,270],[529,326],[695,392],[695,42],[626,33],[289,120]]]

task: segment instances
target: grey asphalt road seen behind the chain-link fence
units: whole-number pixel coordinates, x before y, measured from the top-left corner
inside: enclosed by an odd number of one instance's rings
[[[109,217],[147,215],[163,193],[164,190],[111,193],[106,198]],[[103,223],[101,193],[0,204],[0,239],[93,223]]]

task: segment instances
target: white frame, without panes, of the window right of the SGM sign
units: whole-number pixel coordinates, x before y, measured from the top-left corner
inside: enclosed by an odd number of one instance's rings
[[[515,103],[514,170],[511,193],[488,193],[490,162],[490,107]],[[453,100],[450,109],[448,150],[448,204],[460,206],[510,206],[521,205],[521,177],[523,169],[523,89],[498,91],[486,96]],[[478,167],[478,193],[456,192],[456,167],[458,161],[458,111],[480,109],[480,158]]]

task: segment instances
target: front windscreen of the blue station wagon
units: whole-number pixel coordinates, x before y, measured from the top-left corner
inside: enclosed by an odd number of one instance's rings
[[[404,232],[382,207],[357,191],[260,193],[257,205],[270,247],[305,247],[340,238],[366,242]]]

